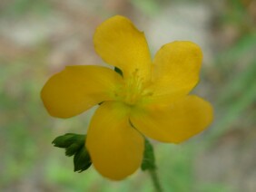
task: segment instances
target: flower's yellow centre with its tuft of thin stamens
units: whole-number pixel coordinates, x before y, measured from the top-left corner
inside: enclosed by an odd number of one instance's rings
[[[123,86],[117,91],[117,100],[131,106],[136,105],[146,96],[152,95],[152,92],[146,89],[146,85],[147,83],[138,75],[138,70],[135,70],[130,78],[124,80]]]

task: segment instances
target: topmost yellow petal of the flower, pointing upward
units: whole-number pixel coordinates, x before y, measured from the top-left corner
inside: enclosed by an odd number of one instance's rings
[[[148,44],[129,19],[117,15],[103,22],[94,34],[94,47],[104,62],[123,71],[124,78],[133,72],[145,80],[150,78]]]

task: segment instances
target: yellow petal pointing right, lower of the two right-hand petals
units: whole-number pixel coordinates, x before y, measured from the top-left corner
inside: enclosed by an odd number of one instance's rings
[[[132,113],[137,130],[162,142],[179,143],[205,130],[212,122],[212,106],[197,96],[185,96],[168,107],[149,106]]]

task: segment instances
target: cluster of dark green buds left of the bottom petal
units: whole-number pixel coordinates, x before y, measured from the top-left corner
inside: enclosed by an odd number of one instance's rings
[[[66,133],[54,139],[54,147],[65,149],[65,155],[74,156],[74,171],[79,173],[90,168],[92,161],[84,146],[86,135]]]

